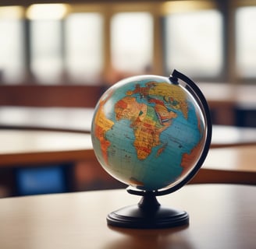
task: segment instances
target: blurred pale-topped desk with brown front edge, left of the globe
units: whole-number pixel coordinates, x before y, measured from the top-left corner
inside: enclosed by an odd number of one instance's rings
[[[0,167],[95,158],[90,134],[0,130]]]

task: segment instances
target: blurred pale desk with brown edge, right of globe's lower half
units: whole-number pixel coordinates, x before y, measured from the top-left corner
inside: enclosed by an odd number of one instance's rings
[[[256,146],[210,149],[191,183],[256,185]]]

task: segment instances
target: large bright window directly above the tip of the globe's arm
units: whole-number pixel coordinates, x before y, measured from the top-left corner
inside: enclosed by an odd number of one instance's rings
[[[197,78],[222,70],[222,16],[214,9],[173,13],[165,19],[165,63]]]

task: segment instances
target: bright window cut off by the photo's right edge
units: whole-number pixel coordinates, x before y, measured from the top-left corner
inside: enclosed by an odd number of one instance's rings
[[[236,9],[236,72],[241,78],[256,77],[256,7]]]

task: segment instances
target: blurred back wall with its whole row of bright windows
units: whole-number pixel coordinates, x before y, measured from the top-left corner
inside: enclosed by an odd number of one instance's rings
[[[254,23],[254,0],[0,6],[0,83],[112,83],[174,68],[254,82]]]

